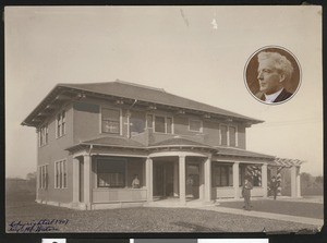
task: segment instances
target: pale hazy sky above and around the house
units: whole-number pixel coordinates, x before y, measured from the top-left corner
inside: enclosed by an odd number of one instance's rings
[[[323,174],[320,7],[7,7],[4,41],[7,177],[36,171],[36,130],[21,122],[56,84],[117,78],[264,120],[246,130],[246,149]],[[244,84],[266,46],[290,50],[302,70],[278,106]]]

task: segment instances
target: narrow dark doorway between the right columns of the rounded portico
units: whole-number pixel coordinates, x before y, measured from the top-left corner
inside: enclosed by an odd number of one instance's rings
[[[186,197],[196,199],[199,197],[199,165],[186,166]]]

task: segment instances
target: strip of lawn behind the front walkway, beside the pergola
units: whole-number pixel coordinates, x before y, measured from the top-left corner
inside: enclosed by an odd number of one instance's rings
[[[301,203],[289,201],[252,201],[251,202],[255,211],[266,211],[272,214],[282,214],[290,216],[300,216],[307,218],[324,219],[324,205],[316,203]],[[222,207],[243,208],[243,202],[226,202],[220,203]]]

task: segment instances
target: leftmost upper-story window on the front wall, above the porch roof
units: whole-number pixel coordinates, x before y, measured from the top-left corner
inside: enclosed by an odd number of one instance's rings
[[[101,132],[120,134],[120,110],[101,109]]]

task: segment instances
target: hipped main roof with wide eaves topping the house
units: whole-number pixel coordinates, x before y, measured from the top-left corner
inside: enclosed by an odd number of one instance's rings
[[[185,86],[185,88],[187,88]],[[250,118],[243,114],[239,114],[232,111],[228,111],[218,107],[198,102],[192,99],[183,98],[181,96],[167,93],[162,88],[153,88],[138,84],[114,81],[104,83],[85,83],[85,84],[58,84],[44,100],[27,116],[22,122],[23,125],[33,125],[33,119],[43,111],[51,100],[63,92],[76,92],[76,93],[92,93],[93,95],[105,95],[117,98],[126,98],[137,101],[144,101],[148,104],[162,105],[167,107],[175,107],[180,109],[207,112],[211,114],[218,114],[230,119],[239,119],[251,124],[261,123],[262,120]]]

